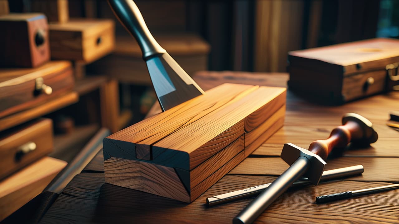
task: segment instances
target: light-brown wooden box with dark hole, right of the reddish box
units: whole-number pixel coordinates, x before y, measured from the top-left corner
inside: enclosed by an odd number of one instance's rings
[[[91,63],[114,49],[113,20],[73,19],[50,23],[50,49],[53,59]]]

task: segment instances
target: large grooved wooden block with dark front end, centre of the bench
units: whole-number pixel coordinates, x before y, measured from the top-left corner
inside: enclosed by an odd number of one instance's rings
[[[285,102],[285,88],[212,88],[105,138],[105,182],[192,202],[282,127]]]

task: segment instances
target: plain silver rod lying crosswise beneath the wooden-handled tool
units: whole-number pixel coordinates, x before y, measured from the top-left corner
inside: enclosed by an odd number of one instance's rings
[[[352,175],[359,175],[359,174],[363,173],[363,171],[364,171],[364,168],[362,165],[342,167],[342,168],[338,168],[338,169],[330,169],[330,170],[323,172],[321,181],[326,181],[326,180],[340,178],[340,177],[347,177],[347,176],[352,176]],[[309,179],[307,179],[305,177],[303,179],[295,181],[292,184],[292,187],[308,185],[310,183],[311,182],[309,181]],[[234,201],[234,200],[238,200],[238,199],[256,196],[256,195],[259,195],[263,190],[265,190],[270,185],[271,185],[271,183],[267,183],[267,184],[263,184],[263,185],[249,187],[247,189],[242,189],[242,190],[238,190],[238,191],[225,193],[222,195],[212,196],[212,197],[206,198],[206,204],[208,206],[214,206],[217,204],[222,204],[222,203],[226,203],[226,202],[230,202],[230,201]]]

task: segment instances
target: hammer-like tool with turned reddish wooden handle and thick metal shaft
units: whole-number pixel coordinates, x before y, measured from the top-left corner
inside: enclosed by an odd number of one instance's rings
[[[290,167],[249,203],[233,219],[233,224],[255,221],[273,201],[302,176],[307,177],[314,185],[318,185],[326,165],[324,160],[332,149],[342,149],[350,142],[370,144],[377,139],[377,132],[374,131],[373,124],[369,120],[359,114],[348,113],[342,118],[342,126],[334,128],[328,139],[312,142],[309,150],[292,143],[284,144],[280,157]]]

